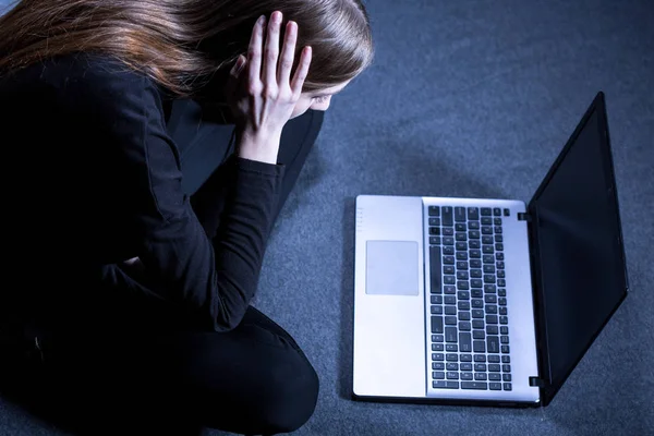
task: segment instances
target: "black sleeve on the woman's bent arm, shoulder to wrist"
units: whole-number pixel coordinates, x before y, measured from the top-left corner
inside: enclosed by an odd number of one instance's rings
[[[209,239],[182,192],[178,148],[155,84],[107,74],[101,92],[111,101],[106,132],[121,150],[116,172],[133,185],[129,205],[145,286],[203,328],[234,328],[258,283],[284,167],[230,159],[225,210]]]

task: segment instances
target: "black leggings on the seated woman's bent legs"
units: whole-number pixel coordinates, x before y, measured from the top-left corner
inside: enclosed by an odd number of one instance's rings
[[[181,150],[183,189],[190,195],[214,171],[218,173],[213,177],[219,175],[234,152],[233,144],[228,148],[233,125],[201,121],[199,113],[195,102],[178,101],[169,122]],[[283,129],[278,164],[287,170],[278,214],[323,116],[310,110]],[[198,123],[189,129],[194,118]],[[221,194],[216,193],[217,198]],[[216,205],[220,208],[221,202]],[[120,314],[114,316],[120,319]],[[189,425],[241,434],[287,433],[311,417],[318,396],[318,377],[300,347],[252,306],[228,332],[84,331],[80,337],[44,337],[39,349],[32,353],[37,364],[26,377],[35,382],[34,395],[50,417],[68,419],[62,425],[75,424],[94,435],[182,435]]]

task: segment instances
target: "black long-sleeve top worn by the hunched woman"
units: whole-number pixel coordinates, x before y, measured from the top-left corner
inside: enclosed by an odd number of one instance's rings
[[[201,222],[182,192],[166,98],[146,75],[98,53],[0,76],[4,270],[20,283],[0,291],[7,312],[116,328],[162,313],[206,330],[239,324],[284,167],[232,156],[220,225]],[[211,183],[197,193],[205,204]],[[123,266],[133,257],[143,275]]]

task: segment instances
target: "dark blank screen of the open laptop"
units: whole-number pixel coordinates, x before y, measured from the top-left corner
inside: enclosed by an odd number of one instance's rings
[[[584,117],[579,136],[568,143],[558,167],[555,164],[532,201],[553,385],[569,375],[626,293],[613,164],[602,116],[595,107]]]

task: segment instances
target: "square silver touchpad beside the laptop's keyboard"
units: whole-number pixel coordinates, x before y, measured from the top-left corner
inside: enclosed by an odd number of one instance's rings
[[[417,242],[366,241],[365,293],[417,295]]]

